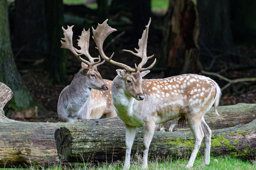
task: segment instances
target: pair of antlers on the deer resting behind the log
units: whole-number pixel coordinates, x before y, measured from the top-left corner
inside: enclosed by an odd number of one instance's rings
[[[79,39],[77,40],[78,46],[81,48],[81,50],[78,50],[73,47],[72,28],[73,26],[67,26],[67,29],[64,29],[64,27],[62,27],[62,30],[64,31],[64,38],[61,39],[64,41],[61,41],[61,48],[69,49],[76,56],[77,59],[87,64],[89,67],[98,67],[99,65],[103,64],[105,60],[101,62],[100,56],[99,58],[92,58],[89,54],[90,28],[87,31],[83,29],[81,35],[79,36]],[[85,55],[89,59],[89,61],[83,59],[81,55]],[[94,62],[95,59],[98,59],[98,61]]]

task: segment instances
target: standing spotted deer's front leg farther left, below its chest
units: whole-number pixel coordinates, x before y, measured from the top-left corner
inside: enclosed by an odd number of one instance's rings
[[[132,148],[135,135],[136,135],[136,127],[132,127],[128,124],[125,124],[126,153],[125,153],[124,170],[128,170],[130,168],[131,148]]]

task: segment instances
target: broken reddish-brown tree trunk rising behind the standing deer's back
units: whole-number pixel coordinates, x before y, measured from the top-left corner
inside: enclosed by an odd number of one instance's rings
[[[198,19],[197,8],[191,0],[169,0],[163,40],[165,57],[161,59],[167,68],[165,76],[196,73],[201,69]]]

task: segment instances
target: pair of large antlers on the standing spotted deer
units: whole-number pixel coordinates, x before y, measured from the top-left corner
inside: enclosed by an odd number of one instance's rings
[[[152,68],[155,65],[156,59],[155,59],[155,61],[149,67],[142,68],[146,64],[146,61],[148,59],[151,59],[152,57],[154,57],[154,55],[152,55],[150,57],[146,56],[146,43],[147,43],[147,36],[148,36],[148,27],[150,25],[151,18],[149,18],[149,22],[148,22],[148,24],[146,26],[146,29],[143,31],[142,37],[138,41],[139,49],[135,48],[137,53],[135,53],[133,51],[129,51],[129,50],[123,50],[123,51],[128,51],[128,52],[132,53],[133,55],[135,55],[137,57],[140,57],[142,59],[142,61],[138,65],[138,67],[135,64],[135,68],[131,68],[131,67],[127,66],[126,64],[119,63],[119,62],[116,62],[116,61],[112,60],[112,57],[113,57],[114,53],[110,56],[110,58],[105,55],[105,53],[103,51],[103,47],[102,47],[103,46],[103,42],[105,41],[107,36],[109,36],[109,34],[111,34],[112,32],[116,31],[116,29],[111,28],[107,24],[107,21],[108,21],[108,19],[105,20],[102,24],[98,24],[96,30],[94,30],[92,28],[93,40],[96,43],[96,45],[98,47],[98,50],[99,50],[99,52],[101,54],[101,57],[104,60],[106,60],[110,64],[119,66],[120,68],[124,68],[128,72],[146,71],[146,70],[149,70],[150,68]]]

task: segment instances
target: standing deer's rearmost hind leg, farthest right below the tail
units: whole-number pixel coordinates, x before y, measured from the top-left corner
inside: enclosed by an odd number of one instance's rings
[[[203,165],[209,165],[210,163],[210,138],[211,130],[210,127],[206,124],[204,118],[201,118],[201,126],[204,134],[204,162]]]

